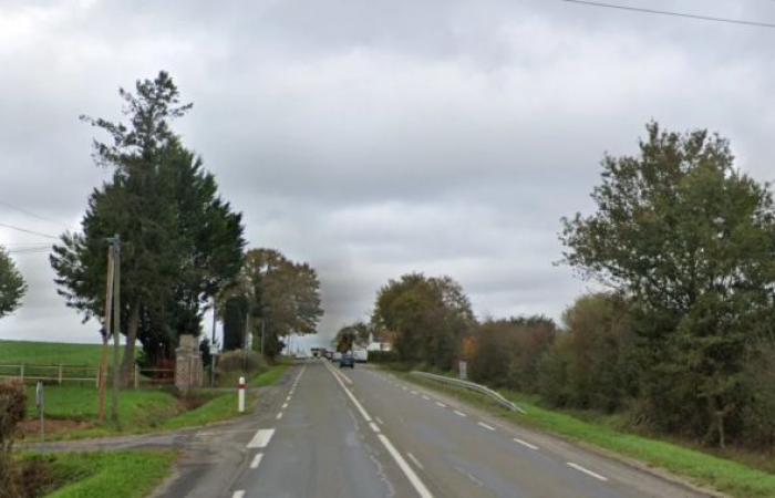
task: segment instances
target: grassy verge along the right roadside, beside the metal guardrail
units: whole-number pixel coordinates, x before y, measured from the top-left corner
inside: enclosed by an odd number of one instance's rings
[[[504,419],[529,425],[579,442],[637,459],[652,467],[688,478],[740,498],[775,497],[775,475],[751,468],[737,461],[723,459],[678,444],[651,439],[611,427],[580,421],[571,415],[549,411],[531,403],[529,397],[502,391],[500,394],[517,403],[527,414],[506,412],[482,395],[444,386],[432,381],[402,375],[407,381],[448,393],[465,402],[485,408]]]

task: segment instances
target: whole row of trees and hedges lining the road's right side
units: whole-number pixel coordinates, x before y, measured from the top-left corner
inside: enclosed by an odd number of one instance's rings
[[[775,208],[728,141],[647,125],[602,159],[592,215],[562,218],[562,262],[600,286],[562,314],[474,320],[448,277],[378,293],[397,361],[453,370],[551,406],[628,416],[707,445],[775,443]]]

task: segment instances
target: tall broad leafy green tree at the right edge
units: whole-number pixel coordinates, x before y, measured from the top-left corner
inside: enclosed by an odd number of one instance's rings
[[[647,128],[638,156],[603,158],[597,212],[564,219],[565,260],[634,300],[644,416],[723,446],[746,350],[773,333],[773,199],[725,139]]]

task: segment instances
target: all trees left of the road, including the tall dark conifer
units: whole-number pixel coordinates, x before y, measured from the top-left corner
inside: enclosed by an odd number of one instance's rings
[[[84,322],[102,324],[108,239],[118,236],[122,383],[130,378],[136,342],[147,364],[170,361],[182,334],[203,334],[206,310],[228,317],[235,300],[264,323],[268,356],[278,354],[290,333],[316,333],[322,309],[314,269],[277,250],[246,250],[242,215],[172,127],[193,107],[182,102],[172,76],[162,71],[118,94],[124,122],[81,116],[106,134],[106,141],[94,139],[92,157],[112,175],[89,196],[80,230],[53,246],[50,262],[66,305]],[[19,307],[25,289],[0,248],[0,317]],[[99,330],[103,341],[111,332]]]

